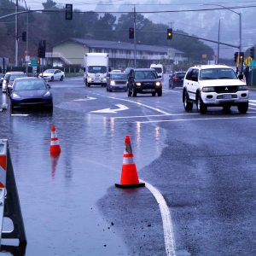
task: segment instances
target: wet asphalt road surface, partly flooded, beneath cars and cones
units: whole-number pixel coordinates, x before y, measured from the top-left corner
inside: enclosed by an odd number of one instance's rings
[[[247,114],[210,108],[200,115],[195,108],[185,113],[180,88],[166,85],[162,97],[128,98],[85,88],[82,78],[50,84],[52,115],[0,113],[25,223],[24,254],[166,255],[154,195],[114,187],[127,134],[139,177],[169,207],[176,255],[256,254],[254,91]],[[91,113],[118,104],[125,110]],[[59,159],[49,156],[51,125]]]

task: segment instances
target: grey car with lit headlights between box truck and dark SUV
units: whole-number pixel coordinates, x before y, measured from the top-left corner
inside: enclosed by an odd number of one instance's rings
[[[109,73],[107,91],[127,90],[128,75],[126,73]]]

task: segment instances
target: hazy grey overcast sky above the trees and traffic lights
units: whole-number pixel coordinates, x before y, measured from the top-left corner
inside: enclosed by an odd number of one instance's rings
[[[20,4],[30,9],[43,9],[42,3],[46,0],[20,0]],[[241,42],[242,50],[256,44],[256,0],[255,1],[234,1],[234,0],[55,0],[58,7],[64,7],[66,3],[73,3],[73,9],[82,11],[95,10],[99,12],[111,11],[133,11],[156,12],[143,14],[149,20],[181,29],[190,35],[200,38],[208,38],[218,41],[218,26],[220,23],[220,42],[232,45],[239,45],[239,15],[241,13]],[[168,3],[168,4],[166,4]],[[224,6],[226,9],[219,9]],[[232,9],[231,8],[236,8]],[[201,11],[189,11],[196,9],[212,9]],[[214,10],[215,9],[215,10]],[[179,11],[169,13],[157,13],[157,11]],[[181,11],[181,12],[180,12]],[[234,13],[236,12],[236,13]],[[113,14],[115,15],[115,14]],[[174,35],[175,36],[175,35]],[[217,53],[217,44],[209,44]],[[220,57],[233,58],[236,48],[220,46]]]

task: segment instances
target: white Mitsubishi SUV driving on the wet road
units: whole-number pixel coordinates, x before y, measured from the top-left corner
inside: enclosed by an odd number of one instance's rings
[[[190,111],[195,103],[200,113],[206,113],[207,107],[222,107],[228,111],[231,106],[237,106],[240,113],[247,113],[248,97],[247,85],[228,66],[190,67],[183,80],[186,111]]]

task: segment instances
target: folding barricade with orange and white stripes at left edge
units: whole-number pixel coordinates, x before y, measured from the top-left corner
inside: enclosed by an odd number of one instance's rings
[[[3,218],[10,218],[13,222],[13,230],[3,230]],[[0,139],[0,229],[0,244],[2,244],[2,238],[19,239],[20,244],[26,244],[26,234],[15,183],[15,173],[6,139]]]

